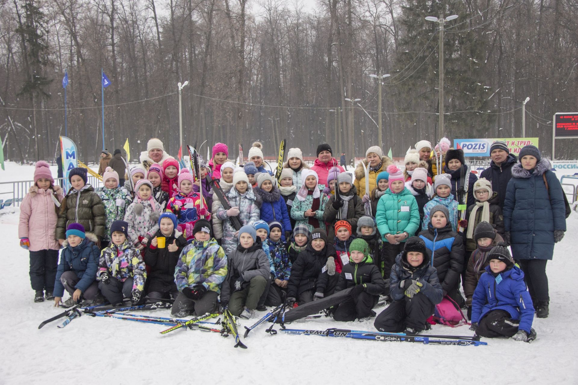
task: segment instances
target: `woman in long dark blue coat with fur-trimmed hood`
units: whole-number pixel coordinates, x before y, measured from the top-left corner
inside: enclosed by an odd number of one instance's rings
[[[546,263],[566,231],[564,192],[538,148],[524,146],[519,159],[506,189],[505,240],[524,271],[536,316],[545,318],[550,302]]]

